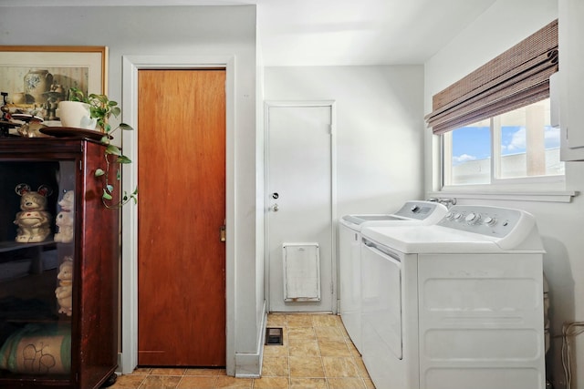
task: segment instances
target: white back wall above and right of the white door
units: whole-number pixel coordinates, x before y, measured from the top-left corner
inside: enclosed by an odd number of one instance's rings
[[[337,215],[422,196],[421,66],[266,67],[266,100],[334,100]]]

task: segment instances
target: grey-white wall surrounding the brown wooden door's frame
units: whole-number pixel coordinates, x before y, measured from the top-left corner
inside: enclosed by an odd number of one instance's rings
[[[256,253],[256,247],[263,247],[263,236],[258,237],[255,229],[255,5],[0,6],[0,45],[109,46],[108,91],[117,101],[121,101],[122,56],[235,56],[235,138],[231,139],[235,178],[227,185],[232,202],[228,207],[235,215],[235,230],[229,236],[235,258],[228,259],[234,266],[227,269],[227,280],[233,281],[227,288],[234,295],[227,307],[228,318],[233,318],[227,323],[227,339],[228,350],[234,353],[227,355],[227,372],[239,374],[236,369],[241,368],[242,374],[253,374],[254,369],[257,374],[264,280],[263,261],[257,261]],[[235,366],[236,358],[255,364]]]

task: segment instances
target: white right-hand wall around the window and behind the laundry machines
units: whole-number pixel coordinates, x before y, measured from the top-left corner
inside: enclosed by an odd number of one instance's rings
[[[432,96],[533,34],[558,17],[556,0],[498,0],[448,46],[443,47],[425,64],[424,112],[432,110]],[[561,23],[561,21],[559,21]],[[561,67],[561,64],[560,64]],[[426,150],[433,159],[426,162],[425,187],[439,189],[437,138],[426,131]],[[548,190],[584,189],[584,164],[567,163],[564,187]],[[549,282],[552,335],[561,333],[563,322],[584,320],[584,198],[570,203],[517,200],[459,200],[459,203],[482,203],[527,210],[537,218],[547,254],[544,272]],[[552,340],[547,370],[556,389],[564,388],[560,361],[561,338]],[[584,388],[584,339],[577,338],[572,364],[572,389]],[[576,361],[579,361],[577,364]]]

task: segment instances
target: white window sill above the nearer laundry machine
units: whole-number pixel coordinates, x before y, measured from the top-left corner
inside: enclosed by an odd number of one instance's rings
[[[472,200],[517,200],[517,201],[540,201],[540,202],[571,202],[572,198],[578,196],[579,192],[574,190],[565,191],[457,191],[443,190],[429,192],[429,198],[445,199],[472,199]]]

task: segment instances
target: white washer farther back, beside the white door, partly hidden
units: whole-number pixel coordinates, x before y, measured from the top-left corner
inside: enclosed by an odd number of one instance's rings
[[[365,226],[433,224],[446,214],[434,201],[406,201],[390,214],[346,215],[339,223],[339,312],[347,333],[361,351],[360,231]]]

